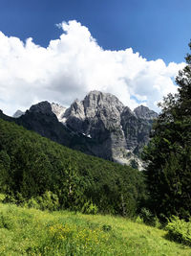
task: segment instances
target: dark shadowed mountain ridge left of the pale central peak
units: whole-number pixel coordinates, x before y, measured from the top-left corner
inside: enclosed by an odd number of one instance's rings
[[[13,121],[24,128],[33,130],[40,135],[53,140],[54,142],[74,150],[95,155],[89,149],[89,145],[91,145],[92,142],[87,143],[89,140],[88,138],[84,137],[82,134],[76,134],[59,122],[58,118],[63,109],[64,107],[60,105],[51,105],[49,102],[45,101],[37,105],[32,105],[24,115]]]

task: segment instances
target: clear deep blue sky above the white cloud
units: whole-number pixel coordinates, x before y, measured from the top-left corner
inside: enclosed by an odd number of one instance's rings
[[[180,62],[191,37],[190,0],[1,0],[0,30],[47,46],[54,24],[77,20],[104,49],[132,47],[147,59]]]

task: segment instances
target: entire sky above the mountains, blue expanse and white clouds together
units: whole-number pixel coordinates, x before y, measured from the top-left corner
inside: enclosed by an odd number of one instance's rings
[[[190,0],[0,0],[0,109],[100,90],[159,111],[189,52],[190,10]]]

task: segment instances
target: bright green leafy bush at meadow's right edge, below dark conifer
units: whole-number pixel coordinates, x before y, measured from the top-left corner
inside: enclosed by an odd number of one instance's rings
[[[171,240],[191,246],[191,220],[183,221],[179,217],[173,216],[166,229]]]

